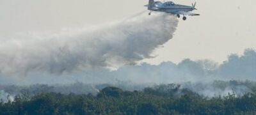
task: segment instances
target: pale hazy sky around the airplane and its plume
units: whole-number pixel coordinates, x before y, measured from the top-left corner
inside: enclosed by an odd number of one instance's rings
[[[175,0],[191,5],[195,1]],[[180,19],[175,36],[157,49],[150,63],[184,58],[222,62],[230,53],[256,49],[255,0],[197,0],[199,17]],[[28,31],[108,24],[136,15],[147,0],[0,0],[0,37]],[[148,17],[148,15],[145,15]]]

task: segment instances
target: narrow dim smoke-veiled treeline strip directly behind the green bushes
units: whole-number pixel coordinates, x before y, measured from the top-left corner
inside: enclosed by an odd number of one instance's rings
[[[166,93],[175,89],[176,92],[190,90],[203,96],[227,96],[227,92],[235,93],[238,96],[243,96],[245,93],[252,91],[256,87],[254,81],[212,81],[212,82],[182,82],[180,84],[134,84],[132,82],[116,82],[115,84],[84,84],[83,82],[74,82],[72,84],[31,84],[25,86],[15,85],[0,85],[0,99],[6,102],[6,96],[10,95],[13,98],[15,95],[35,96],[41,93],[61,93],[68,95],[74,93],[83,95],[92,93],[97,95],[99,91],[108,86],[115,86],[127,91],[148,89],[151,87],[154,91]],[[173,88],[173,86],[176,86]],[[170,94],[170,93],[169,93]],[[178,93],[179,94],[179,93]],[[175,94],[172,94],[175,95]],[[177,95],[177,94],[176,94]]]

